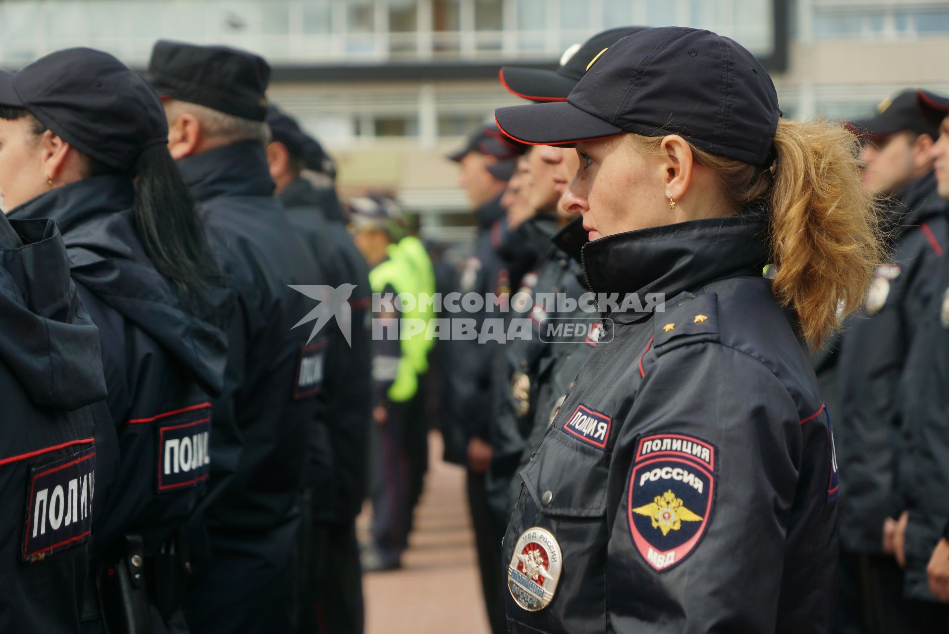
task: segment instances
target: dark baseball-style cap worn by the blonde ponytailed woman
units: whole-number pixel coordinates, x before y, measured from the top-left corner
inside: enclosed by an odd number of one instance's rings
[[[748,49],[711,31],[661,27],[599,54],[566,102],[494,114],[505,134],[534,145],[679,134],[717,156],[764,165],[781,111],[771,77]]]

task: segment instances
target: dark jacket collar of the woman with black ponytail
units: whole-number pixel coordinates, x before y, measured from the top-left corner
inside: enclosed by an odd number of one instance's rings
[[[65,235],[97,216],[131,208],[134,200],[132,179],[109,174],[51,189],[13,208],[9,217],[21,220],[52,218]]]

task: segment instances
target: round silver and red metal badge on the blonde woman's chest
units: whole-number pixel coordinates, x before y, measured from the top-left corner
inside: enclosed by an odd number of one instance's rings
[[[549,606],[563,563],[560,544],[549,531],[535,526],[521,533],[508,566],[508,589],[517,605],[529,612]]]

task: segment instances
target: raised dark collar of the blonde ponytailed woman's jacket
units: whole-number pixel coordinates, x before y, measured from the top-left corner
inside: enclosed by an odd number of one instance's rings
[[[596,293],[636,293],[649,306],[646,293],[662,293],[663,301],[683,291],[743,274],[761,274],[769,247],[767,221],[761,214],[704,218],[635,232],[607,235],[583,248],[587,287]],[[637,313],[617,313],[629,322]]]

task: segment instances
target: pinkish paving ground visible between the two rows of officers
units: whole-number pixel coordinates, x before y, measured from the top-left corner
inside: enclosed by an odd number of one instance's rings
[[[429,439],[432,463],[403,567],[363,576],[366,634],[489,634],[465,498],[464,470],[442,462],[441,438]],[[359,519],[367,537],[369,513]]]

